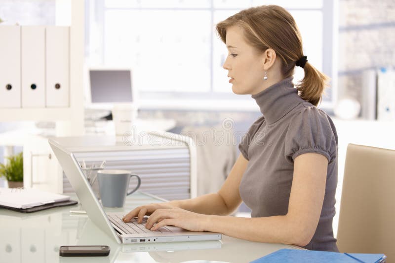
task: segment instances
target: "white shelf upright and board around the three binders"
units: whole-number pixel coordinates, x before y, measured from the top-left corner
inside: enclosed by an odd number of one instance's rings
[[[55,25],[70,26],[70,107],[1,108],[0,105],[0,122],[65,121],[56,125],[57,136],[83,134],[84,12],[84,1],[55,0]]]

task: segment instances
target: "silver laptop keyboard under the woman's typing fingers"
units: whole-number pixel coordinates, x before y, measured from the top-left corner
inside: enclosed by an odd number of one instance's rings
[[[147,223],[147,217],[143,217],[143,221],[139,224],[137,223],[137,218],[132,218],[130,222],[125,223],[122,221],[122,216],[118,214],[107,214],[108,219],[116,225],[119,229],[127,234],[143,234],[143,233],[165,233],[171,232],[171,230],[166,227],[161,227],[158,230],[151,231],[145,228]]]

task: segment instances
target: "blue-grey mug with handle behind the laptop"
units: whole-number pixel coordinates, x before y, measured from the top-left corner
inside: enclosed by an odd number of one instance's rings
[[[137,178],[137,186],[128,192],[131,177]],[[125,197],[136,192],[141,184],[141,179],[137,174],[126,170],[99,170],[97,179],[102,205],[106,207],[123,207]]]

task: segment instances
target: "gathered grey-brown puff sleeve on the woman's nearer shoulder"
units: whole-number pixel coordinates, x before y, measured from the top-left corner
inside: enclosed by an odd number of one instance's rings
[[[293,163],[305,153],[318,153],[328,159],[337,156],[336,128],[329,116],[315,106],[305,106],[291,120],[285,135],[285,158]]]

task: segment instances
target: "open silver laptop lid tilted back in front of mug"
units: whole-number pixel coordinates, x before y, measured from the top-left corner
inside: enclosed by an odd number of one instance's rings
[[[76,191],[77,197],[83,204],[83,209],[86,211],[89,219],[107,235],[114,237],[118,244],[121,244],[117,232],[114,230],[102,206],[95,197],[74,154],[62,147],[54,139],[49,139],[48,142],[64,172],[67,174],[70,184]]]

